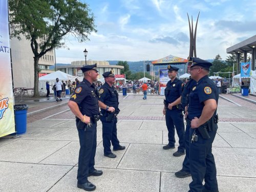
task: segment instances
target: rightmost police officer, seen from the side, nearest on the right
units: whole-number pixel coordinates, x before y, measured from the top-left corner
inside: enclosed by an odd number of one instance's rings
[[[208,78],[212,64],[200,58],[192,58],[191,78],[197,81],[189,93],[188,119],[191,121],[189,144],[189,165],[192,182],[189,191],[218,190],[216,165],[211,153],[218,126],[218,90]],[[203,186],[202,182],[205,181]]]

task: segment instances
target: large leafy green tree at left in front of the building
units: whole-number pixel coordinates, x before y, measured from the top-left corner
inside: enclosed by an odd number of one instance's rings
[[[34,96],[38,92],[38,60],[54,48],[65,47],[67,35],[79,42],[95,31],[88,4],[78,0],[9,0],[11,37],[23,34],[34,54]]]

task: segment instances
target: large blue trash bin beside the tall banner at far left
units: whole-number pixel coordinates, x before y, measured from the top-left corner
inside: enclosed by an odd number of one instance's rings
[[[14,105],[14,119],[16,135],[25,134],[27,131],[27,111],[29,105],[16,104]]]

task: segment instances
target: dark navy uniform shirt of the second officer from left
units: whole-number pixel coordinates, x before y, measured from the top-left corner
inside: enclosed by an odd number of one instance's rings
[[[114,86],[110,87],[108,83],[104,83],[99,90],[99,100],[108,106],[113,106],[115,110],[118,109],[118,93]],[[102,114],[105,109],[101,109]]]

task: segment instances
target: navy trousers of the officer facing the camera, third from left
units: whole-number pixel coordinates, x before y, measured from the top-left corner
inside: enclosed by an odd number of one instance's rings
[[[180,144],[180,146],[178,146],[178,151],[181,153],[184,153],[185,152],[185,144],[184,144],[185,127],[184,127],[182,110],[167,109],[165,114],[165,122],[168,130],[168,141],[169,141],[168,145],[169,146],[175,145],[175,128],[176,128],[176,132],[178,134],[179,144]]]

